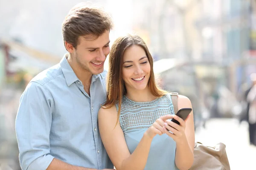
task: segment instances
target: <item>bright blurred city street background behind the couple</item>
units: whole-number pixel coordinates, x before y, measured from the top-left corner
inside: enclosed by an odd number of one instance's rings
[[[0,0],[0,170],[20,170],[20,95],[32,77],[66,53],[61,23],[79,2]],[[189,97],[195,140],[226,144],[231,170],[256,170],[244,97],[256,73],[256,0],[90,2],[111,13],[111,42],[126,33],[143,37],[160,86]]]

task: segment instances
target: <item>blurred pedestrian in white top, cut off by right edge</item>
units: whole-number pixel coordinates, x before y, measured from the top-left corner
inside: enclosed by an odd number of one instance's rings
[[[250,75],[252,87],[247,94],[250,144],[256,146],[256,73]]]

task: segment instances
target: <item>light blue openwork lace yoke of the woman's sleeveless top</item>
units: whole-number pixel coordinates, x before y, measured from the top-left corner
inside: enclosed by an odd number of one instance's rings
[[[118,110],[118,104],[116,109]],[[151,102],[135,102],[123,96],[119,123],[123,132],[150,127],[160,116],[175,114],[170,94]]]

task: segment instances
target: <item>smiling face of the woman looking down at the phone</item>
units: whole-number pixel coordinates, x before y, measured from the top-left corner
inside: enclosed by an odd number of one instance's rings
[[[122,78],[127,91],[147,88],[150,73],[151,68],[144,49],[139,45],[127,48],[122,61]]]

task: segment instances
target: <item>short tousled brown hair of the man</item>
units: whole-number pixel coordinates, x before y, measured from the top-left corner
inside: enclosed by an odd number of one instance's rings
[[[113,27],[111,16],[101,8],[91,7],[85,3],[74,6],[62,23],[62,35],[65,41],[79,45],[79,36],[90,40],[96,39]]]

